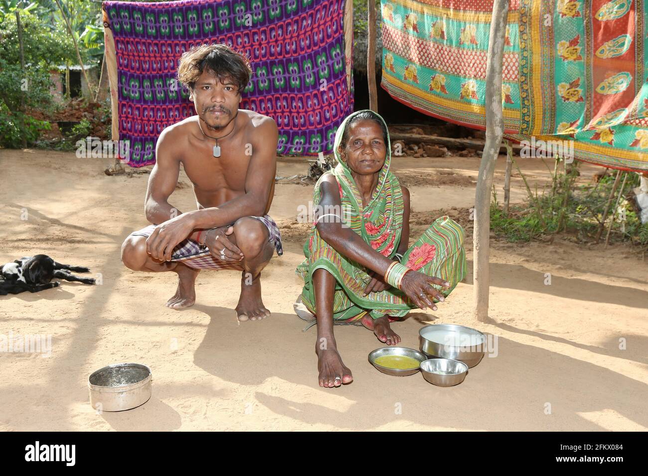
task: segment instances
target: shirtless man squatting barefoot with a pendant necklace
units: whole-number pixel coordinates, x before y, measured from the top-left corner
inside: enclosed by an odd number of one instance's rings
[[[178,275],[169,308],[194,304],[200,269],[237,269],[238,320],[270,315],[260,273],[275,250],[283,254],[279,228],[268,216],[279,132],[271,117],[238,109],[251,73],[248,60],[227,45],[200,45],[180,58],[178,80],[189,88],[196,115],[160,134],[145,199],[152,225],[131,233],[121,251],[134,271]],[[198,205],[185,213],[168,203],[180,164]]]

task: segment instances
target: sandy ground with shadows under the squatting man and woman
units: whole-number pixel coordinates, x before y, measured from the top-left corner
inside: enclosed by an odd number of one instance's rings
[[[532,183],[547,168],[520,160]],[[148,175],[108,177],[108,161],[73,153],[0,150],[0,263],[46,253],[91,267],[102,284],[64,283],[37,294],[0,297],[0,335],[48,334],[52,353],[0,352],[1,430],[645,430],[648,380],[647,264],[616,245],[584,247],[563,240],[524,245],[492,241],[491,324],[472,317],[469,276],[437,312],[413,312],[395,324],[402,345],[417,348],[426,323],[457,323],[498,337],[457,387],[426,383],[420,374],[380,374],[367,354],[382,344],[364,328],[336,328],[354,382],[317,383],[314,328],[292,303],[301,284],[305,228],[295,223],[311,187],[277,185],[271,214],[283,227],[284,250],[264,271],[265,321],[239,324],[235,272],[201,273],[196,305],[181,312],[164,303],[172,274],[134,273],[122,266],[124,237],[145,226]],[[479,159],[399,158],[394,169],[410,185],[415,229],[449,210],[467,227]],[[284,159],[279,176],[304,173]],[[585,166],[581,179],[597,168]],[[183,174],[171,202],[195,207]],[[426,182],[427,185],[426,185]],[[500,157],[496,186],[503,183]],[[524,198],[513,179],[513,201]],[[546,285],[546,273],[551,284]],[[621,341],[619,341],[621,339]],[[619,348],[619,342],[625,348]],[[621,345],[624,347],[624,345]],[[153,396],[123,413],[89,405],[87,376],[122,361],[145,363]]]

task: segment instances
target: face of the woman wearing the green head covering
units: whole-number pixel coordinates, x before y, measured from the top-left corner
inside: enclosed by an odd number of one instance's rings
[[[347,130],[347,144],[340,146],[342,161],[359,175],[380,172],[387,157],[387,144],[380,125],[371,119],[351,124]]]

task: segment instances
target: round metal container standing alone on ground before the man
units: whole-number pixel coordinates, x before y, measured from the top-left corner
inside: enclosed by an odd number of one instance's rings
[[[139,363],[107,365],[90,374],[90,404],[100,411],[123,411],[151,398],[151,369]]]

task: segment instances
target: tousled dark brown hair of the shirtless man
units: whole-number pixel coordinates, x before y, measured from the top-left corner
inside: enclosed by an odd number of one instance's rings
[[[238,93],[248,85],[252,68],[244,54],[229,45],[196,45],[185,51],[178,65],[178,81],[193,91],[203,71],[214,74],[218,80],[232,80],[238,85]]]

